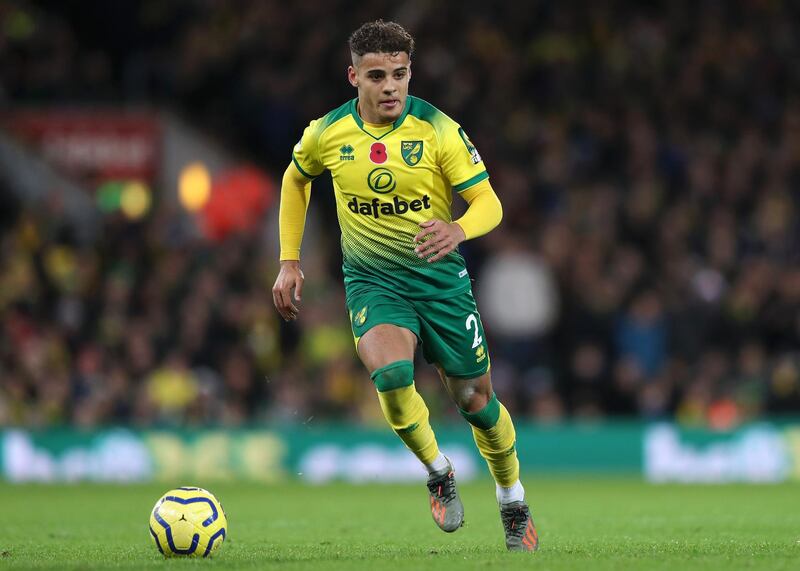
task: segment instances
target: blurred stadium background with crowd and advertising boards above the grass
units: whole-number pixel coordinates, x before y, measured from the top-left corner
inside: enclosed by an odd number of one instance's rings
[[[800,477],[800,14],[759,0],[4,1],[3,477],[424,478],[353,354],[329,181],[301,319],[270,294],[280,175],[377,16],[504,204],[462,252],[524,469]]]

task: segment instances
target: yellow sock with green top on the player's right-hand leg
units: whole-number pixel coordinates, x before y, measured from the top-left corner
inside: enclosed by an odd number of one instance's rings
[[[494,481],[506,488],[514,485],[519,480],[519,459],[514,445],[517,435],[506,407],[492,395],[483,409],[474,413],[462,410],[461,415],[472,425],[475,444]]]

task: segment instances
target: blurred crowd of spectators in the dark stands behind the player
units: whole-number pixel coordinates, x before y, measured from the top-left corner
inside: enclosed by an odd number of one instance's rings
[[[277,177],[304,124],[354,96],[349,32],[395,19],[412,93],[464,126],[505,206],[462,252],[514,414],[796,414],[800,5],[646,4],[12,0],[0,101],[166,106]],[[329,181],[290,325],[274,216],[210,244],[162,206],[85,245],[57,199],[0,190],[0,424],[380,421]],[[431,368],[417,383],[456,418]]]

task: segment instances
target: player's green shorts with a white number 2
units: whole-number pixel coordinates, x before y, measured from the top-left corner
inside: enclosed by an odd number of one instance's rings
[[[446,299],[420,301],[375,285],[348,292],[347,310],[356,350],[364,333],[388,323],[413,331],[425,360],[440,366],[449,377],[473,379],[489,370],[483,324],[470,290]]]

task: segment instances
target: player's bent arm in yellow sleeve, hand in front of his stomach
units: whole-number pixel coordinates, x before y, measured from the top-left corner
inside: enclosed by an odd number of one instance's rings
[[[489,180],[483,180],[459,193],[469,205],[464,215],[447,223],[438,218],[426,220],[414,236],[417,256],[435,262],[455,250],[464,240],[483,236],[500,224],[503,206]],[[427,236],[425,242],[420,243]]]

